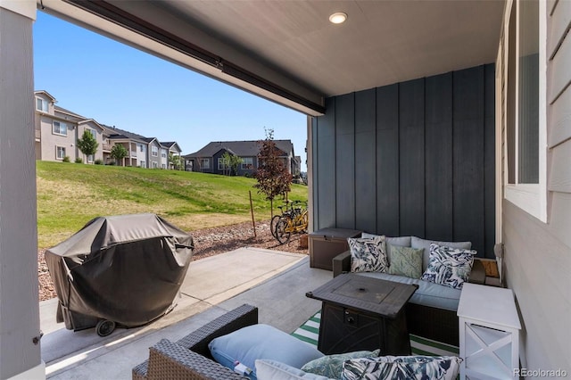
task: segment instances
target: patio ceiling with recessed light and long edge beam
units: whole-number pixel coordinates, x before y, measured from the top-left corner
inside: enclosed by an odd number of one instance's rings
[[[311,115],[324,98],[494,62],[504,0],[37,0],[38,7]],[[345,12],[335,25],[328,17]]]

